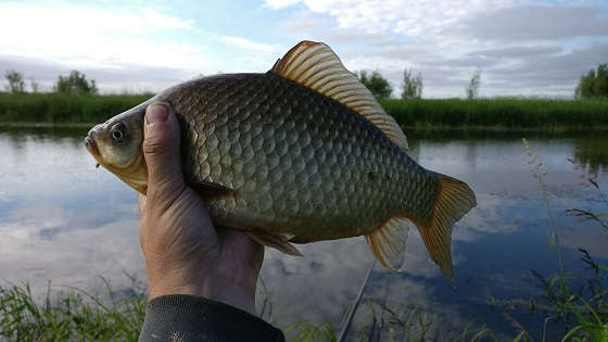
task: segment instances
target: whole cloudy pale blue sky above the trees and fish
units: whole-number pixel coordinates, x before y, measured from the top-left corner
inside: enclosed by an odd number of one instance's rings
[[[301,40],[330,46],[350,71],[378,71],[423,98],[571,98],[608,63],[608,0],[0,0],[0,73],[50,90],[72,69],[101,92],[157,92],[217,73],[265,73]],[[7,83],[2,79],[1,86]]]

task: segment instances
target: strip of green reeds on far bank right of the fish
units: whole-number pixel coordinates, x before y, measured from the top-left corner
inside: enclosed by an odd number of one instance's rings
[[[608,101],[543,99],[380,99],[397,123],[416,128],[588,129],[608,127]]]

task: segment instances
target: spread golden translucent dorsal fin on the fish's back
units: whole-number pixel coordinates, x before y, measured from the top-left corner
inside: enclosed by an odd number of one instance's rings
[[[325,43],[301,41],[275,63],[270,73],[346,105],[376,125],[391,141],[407,149],[407,139],[396,121]]]

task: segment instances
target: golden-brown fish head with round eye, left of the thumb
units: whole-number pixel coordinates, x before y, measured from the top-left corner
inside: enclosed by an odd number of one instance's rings
[[[148,167],[143,157],[145,105],[118,114],[89,130],[85,144],[101,165],[137,191],[145,194]]]

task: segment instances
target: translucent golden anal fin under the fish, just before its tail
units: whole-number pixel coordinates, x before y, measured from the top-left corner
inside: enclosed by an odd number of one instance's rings
[[[410,226],[405,217],[391,217],[383,226],[365,235],[371,252],[384,268],[400,270]]]

